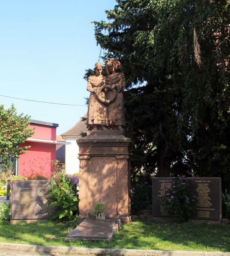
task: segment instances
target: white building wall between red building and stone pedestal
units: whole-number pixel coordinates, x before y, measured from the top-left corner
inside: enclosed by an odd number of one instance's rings
[[[66,136],[66,142],[71,142],[71,144],[66,145],[66,173],[74,174],[79,173],[79,147],[76,142],[81,136]]]

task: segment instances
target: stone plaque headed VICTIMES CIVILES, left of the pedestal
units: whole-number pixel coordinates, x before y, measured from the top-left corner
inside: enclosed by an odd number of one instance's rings
[[[60,210],[49,207],[55,201],[49,198],[48,180],[12,180],[11,220],[48,219]]]

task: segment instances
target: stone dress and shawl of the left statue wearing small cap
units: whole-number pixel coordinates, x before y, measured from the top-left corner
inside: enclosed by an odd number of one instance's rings
[[[93,88],[100,87],[105,84],[105,76],[89,76],[87,91],[90,92],[88,119],[86,125],[93,127],[96,125],[107,125],[106,105],[99,101],[96,94],[92,92]],[[101,92],[101,97],[105,99],[105,92]]]

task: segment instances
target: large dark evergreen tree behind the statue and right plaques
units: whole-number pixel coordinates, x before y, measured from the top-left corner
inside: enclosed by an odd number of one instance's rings
[[[106,58],[118,58],[132,175],[223,176],[230,168],[230,3],[117,0],[94,21]]]

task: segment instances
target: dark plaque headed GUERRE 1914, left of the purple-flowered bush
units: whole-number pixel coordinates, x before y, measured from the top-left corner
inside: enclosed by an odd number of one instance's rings
[[[152,216],[173,217],[164,207],[160,207],[159,195],[165,194],[167,187],[171,188],[172,178],[152,178]]]

